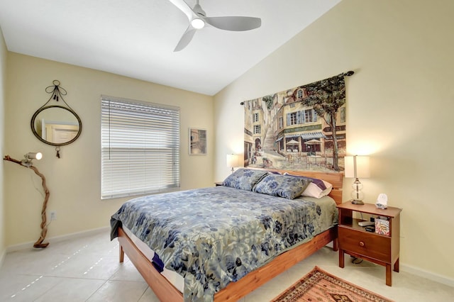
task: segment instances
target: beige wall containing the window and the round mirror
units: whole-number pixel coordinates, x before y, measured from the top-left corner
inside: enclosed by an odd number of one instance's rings
[[[61,147],[60,159],[55,157],[55,147],[40,142],[30,128],[33,113],[50,97],[45,87],[52,85],[54,79],[67,90],[65,101],[83,123],[82,135],[71,145]],[[214,158],[211,96],[13,52],[8,55],[6,92],[8,114],[3,151],[18,160],[26,152],[43,152],[43,160],[35,161],[35,167],[45,175],[50,190],[48,211],[57,211],[57,220],[48,227],[48,237],[106,227],[111,215],[128,199],[100,199],[101,94],[179,106],[182,189],[214,185],[212,169],[200,169],[212,167]],[[208,155],[189,156],[189,127],[207,130]],[[12,162],[4,162],[3,167],[6,246],[34,242],[40,235],[40,178],[31,169]]]

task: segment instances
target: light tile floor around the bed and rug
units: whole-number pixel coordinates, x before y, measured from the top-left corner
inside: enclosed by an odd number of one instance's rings
[[[241,302],[270,301],[315,265],[394,301],[454,301],[454,287],[406,272],[393,272],[384,284],[384,267],[362,262],[338,267],[338,254],[328,247],[256,289]],[[43,249],[6,255],[0,268],[0,301],[158,301],[133,264],[118,263],[118,242],[109,232],[52,242]]]

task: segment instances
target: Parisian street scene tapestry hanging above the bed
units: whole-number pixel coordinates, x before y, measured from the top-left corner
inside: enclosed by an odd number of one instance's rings
[[[342,172],[345,74],[244,102],[244,166]]]

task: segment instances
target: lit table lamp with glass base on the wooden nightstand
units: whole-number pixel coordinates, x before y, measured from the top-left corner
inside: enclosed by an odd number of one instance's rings
[[[345,156],[345,177],[355,178],[352,184],[352,203],[364,204],[364,194],[362,193],[362,184],[359,177],[369,178],[369,157],[368,156]]]

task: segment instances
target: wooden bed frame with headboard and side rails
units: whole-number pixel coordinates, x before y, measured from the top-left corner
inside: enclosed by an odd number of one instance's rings
[[[304,175],[306,177],[313,177],[328,181],[333,184],[333,190],[329,196],[331,196],[337,204],[342,203],[342,173],[268,170],[288,172],[294,175]],[[225,289],[218,291],[218,293],[214,295],[214,301],[238,301],[243,296],[246,296],[251,291],[254,291],[267,281],[270,281],[275,276],[286,271],[302,259],[309,257],[331,241],[333,241],[333,250],[337,251],[337,226],[316,235],[316,237],[309,242],[282,253],[281,255],[275,257],[275,259],[272,259],[271,262],[265,264],[265,266],[255,269],[255,271],[243,276],[240,280],[231,282]],[[148,260],[148,258],[140,252],[138,247],[134,245],[133,241],[128,237],[128,235],[126,235],[122,228],[118,228],[118,242],[120,243],[120,262],[123,262],[124,253],[126,253],[128,258],[131,262],[133,262],[134,266],[138,269],[138,272],[140,272],[143,279],[145,279],[160,301],[183,301],[183,294],[179,292],[169,281],[167,281],[165,276],[162,276],[159,272],[157,272],[150,260]]]

